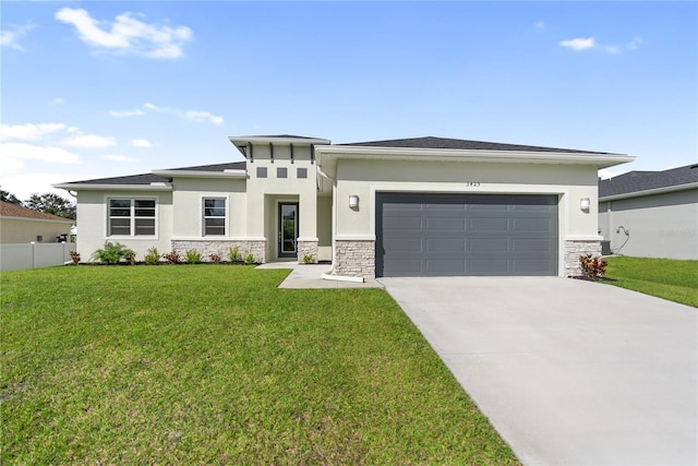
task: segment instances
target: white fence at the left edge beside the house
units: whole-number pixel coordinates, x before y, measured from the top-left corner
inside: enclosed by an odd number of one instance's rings
[[[74,242],[0,244],[0,272],[63,265],[75,251]]]

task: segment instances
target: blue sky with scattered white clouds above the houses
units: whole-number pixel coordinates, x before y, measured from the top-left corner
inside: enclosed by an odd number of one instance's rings
[[[2,2],[0,186],[434,135],[698,162],[697,2]],[[64,191],[58,191],[67,195]]]

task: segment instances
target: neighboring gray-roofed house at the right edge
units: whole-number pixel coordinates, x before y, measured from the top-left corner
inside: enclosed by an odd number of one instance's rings
[[[698,259],[698,164],[601,180],[599,229],[615,253]]]

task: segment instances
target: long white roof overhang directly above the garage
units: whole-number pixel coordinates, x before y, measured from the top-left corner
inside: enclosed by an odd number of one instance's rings
[[[315,147],[318,165],[332,177],[336,176],[337,160],[383,159],[383,160],[429,160],[429,162],[479,162],[503,164],[566,164],[594,166],[598,169],[613,167],[635,160],[624,154],[569,153],[569,152],[525,152],[525,151],[474,151],[453,148],[413,147],[365,147],[322,145]]]

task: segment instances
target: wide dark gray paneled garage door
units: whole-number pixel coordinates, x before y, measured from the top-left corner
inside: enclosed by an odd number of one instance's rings
[[[557,275],[557,195],[376,194],[376,275]]]

